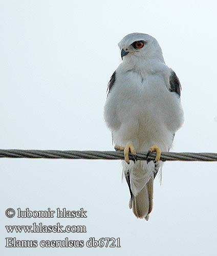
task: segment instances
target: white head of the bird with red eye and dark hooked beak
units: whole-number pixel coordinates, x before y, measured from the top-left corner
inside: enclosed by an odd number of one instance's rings
[[[132,33],[126,35],[118,44],[121,50],[121,58],[127,62],[137,62],[138,60],[161,59],[162,50],[158,41],[148,34]]]

